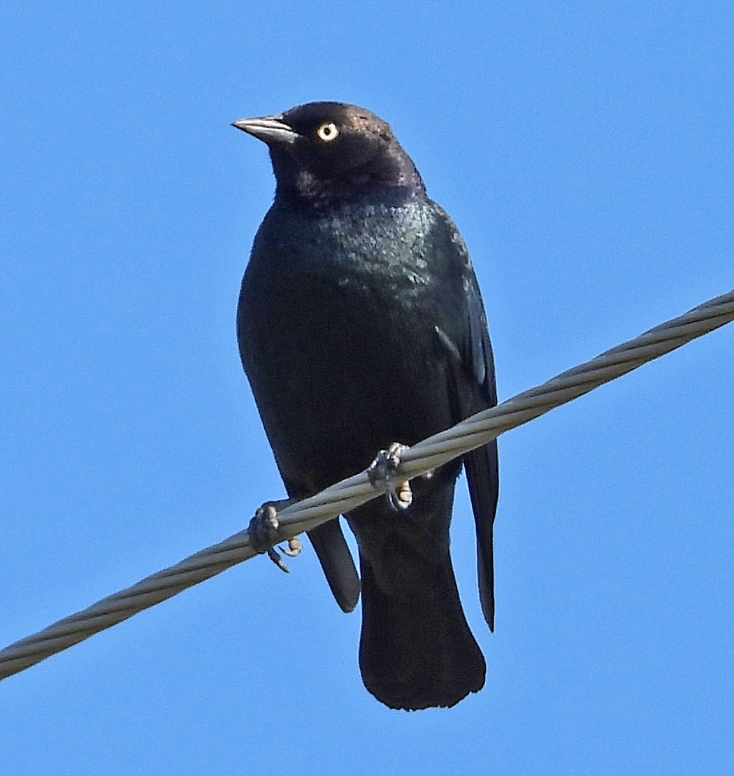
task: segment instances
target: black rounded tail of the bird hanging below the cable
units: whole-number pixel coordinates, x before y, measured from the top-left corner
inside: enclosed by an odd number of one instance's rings
[[[385,577],[360,556],[365,687],[390,708],[453,706],[484,684],[485,663],[469,630],[448,552],[427,562],[405,548]]]

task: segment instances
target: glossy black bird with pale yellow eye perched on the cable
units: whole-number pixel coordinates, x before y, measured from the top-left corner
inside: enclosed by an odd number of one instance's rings
[[[268,146],[275,175],[237,340],[289,498],[497,404],[466,244],[390,125],[358,106],[310,102],[233,126]],[[340,518],[308,534],[341,609],[362,595],[362,680],[390,708],[452,707],[485,682],[449,553],[462,465],[493,631],[496,441],[413,480],[406,509],[393,494],[344,514],[359,573]]]

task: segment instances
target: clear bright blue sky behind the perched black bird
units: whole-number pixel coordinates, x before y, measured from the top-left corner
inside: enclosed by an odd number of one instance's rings
[[[0,642],[282,497],[234,310],[272,199],[230,128],[392,123],[472,252],[500,397],[734,286],[728,3],[5,4]],[[0,684],[6,773],[728,772],[734,327],[500,440],[479,695],[391,712],[313,553]]]

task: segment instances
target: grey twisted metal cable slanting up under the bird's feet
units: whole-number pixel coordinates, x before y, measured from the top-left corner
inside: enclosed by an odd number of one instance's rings
[[[646,331],[541,386],[520,393],[497,407],[467,418],[440,434],[413,445],[402,456],[399,474],[406,479],[490,442],[511,428],[528,423],[554,407],[566,404],[598,386],[632,372],[632,369],[660,358],[695,338],[734,320],[734,289],[686,314]],[[374,487],[366,472],[342,480],[313,497],[279,512],[279,540],[289,539],[344,514],[384,493]],[[208,549],[140,580],[132,587],[103,598],[75,615],[21,639],[0,651],[0,680],[40,663],[57,652],[88,639],[95,633],[123,622],[139,611],[171,598],[187,587],[248,560],[251,549],[246,531],[239,532]]]

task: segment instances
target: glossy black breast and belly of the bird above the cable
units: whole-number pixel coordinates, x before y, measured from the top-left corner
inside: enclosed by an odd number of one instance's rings
[[[441,255],[449,248],[431,241],[431,226],[417,207],[268,214],[238,334],[282,471],[303,474],[303,461],[320,461],[309,481],[325,487],[390,442],[451,424],[435,335],[441,307],[453,307]],[[326,449],[334,456],[325,459]]]

